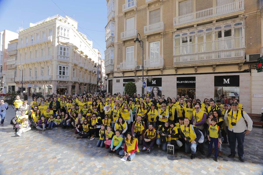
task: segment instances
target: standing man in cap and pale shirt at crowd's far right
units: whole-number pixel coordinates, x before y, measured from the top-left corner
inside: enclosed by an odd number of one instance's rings
[[[226,111],[224,116],[226,126],[228,126],[228,141],[231,154],[228,157],[236,155],[236,140],[238,141],[238,157],[241,162],[245,162],[244,139],[252,130],[253,122],[245,111],[238,109],[238,103],[232,103],[232,109]],[[248,123],[248,127],[246,125]]]

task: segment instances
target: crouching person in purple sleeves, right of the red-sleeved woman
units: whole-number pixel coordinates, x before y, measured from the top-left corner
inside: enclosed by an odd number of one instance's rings
[[[148,153],[150,153],[151,149],[153,148],[153,145],[157,139],[156,130],[153,128],[152,124],[149,124],[149,129],[147,129],[144,133],[144,139],[143,139],[143,148],[142,150],[147,150]],[[148,146],[149,145],[149,146]],[[148,147],[146,147],[148,146]]]

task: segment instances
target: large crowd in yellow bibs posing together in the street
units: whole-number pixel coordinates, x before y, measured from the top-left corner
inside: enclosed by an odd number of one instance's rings
[[[150,153],[155,144],[163,151],[167,150],[167,145],[173,145],[176,151],[184,149],[194,159],[197,149],[205,154],[204,144],[208,144],[207,158],[214,153],[214,160],[218,161],[223,143],[231,149],[228,157],[235,157],[237,140],[238,157],[244,162],[244,136],[252,130],[253,123],[238,99],[230,104],[226,95],[216,102],[207,98],[201,102],[187,95],[167,99],[162,95],[152,100],[150,93],[143,96],[107,92],[53,94],[46,99],[34,97],[28,103],[18,95],[13,102],[17,113],[11,123],[17,136],[31,128],[41,131],[53,127],[74,129],[78,134],[76,138],[97,138],[98,147],[125,155],[129,160],[139,150]],[[4,100],[0,101],[0,107],[3,123],[2,114],[8,109]]]

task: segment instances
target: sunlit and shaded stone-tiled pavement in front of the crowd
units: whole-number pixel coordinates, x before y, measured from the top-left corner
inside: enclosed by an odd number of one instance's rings
[[[9,106],[4,126],[0,127],[0,174],[262,174],[263,129],[254,127],[245,137],[245,162],[228,158],[230,149],[223,145],[219,162],[197,153],[194,160],[182,151],[177,157],[155,147],[151,153],[140,152],[133,161],[97,148],[98,139],[76,139],[72,129],[54,128],[44,132],[30,130],[14,136]],[[206,146],[207,147],[207,146]]]

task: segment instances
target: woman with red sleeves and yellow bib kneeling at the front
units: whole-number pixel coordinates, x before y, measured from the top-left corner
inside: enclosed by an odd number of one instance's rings
[[[136,152],[140,152],[138,148],[138,139],[133,137],[131,132],[128,132],[125,138],[124,150],[120,150],[120,155],[125,155],[129,160],[134,159]]]

